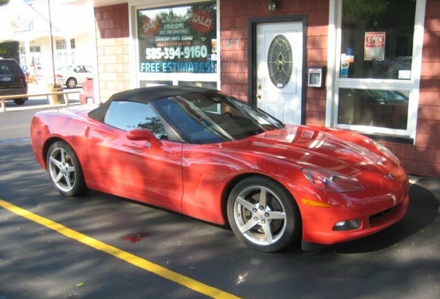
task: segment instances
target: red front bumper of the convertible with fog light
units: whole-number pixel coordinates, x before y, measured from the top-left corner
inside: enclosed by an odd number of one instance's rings
[[[363,183],[363,190],[332,194],[318,191],[312,196],[314,201],[330,203],[330,208],[299,203],[303,242],[347,242],[377,233],[403,219],[409,206],[409,183],[403,167],[378,163],[357,174],[356,179]],[[351,219],[360,219],[360,227],[333,230],[339,221]]]

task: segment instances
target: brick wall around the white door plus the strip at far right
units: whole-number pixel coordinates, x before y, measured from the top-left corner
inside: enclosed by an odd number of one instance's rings
[[[222,0],[221,90],[248,99],[248,18],[308,16],[307,66],[327,66],[329,1],[281,1],[268,12],[266,0]],[[235,45],[233,41],[235,42]],[[239,45],[237,45],[237,41]],[[232,43],[232,45],[231,45]],[[326,90],[306,88],[306,125],[324,125]],[[382,142],[411,174],[440,177],[440,0],[427,0],[416,144]]]

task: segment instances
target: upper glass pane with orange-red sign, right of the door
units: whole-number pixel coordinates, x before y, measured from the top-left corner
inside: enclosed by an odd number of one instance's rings
[[[340,78],[410,80],[414,0],[343,0]]]

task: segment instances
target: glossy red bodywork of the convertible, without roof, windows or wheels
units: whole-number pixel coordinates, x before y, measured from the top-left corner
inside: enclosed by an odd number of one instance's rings
[[[241,176],[262,174],[293,195],[302,217],[302,240],[320,244],[371,235],[401,220],[408,208],[409,183],[403,167],[385,157],[369,138],[353,132],[286,125],[240,141],[205,145],[161,141],[157,147],[130,141],[126,132],[89,118],[87,112],[77,107],[37,113],[31,141],[44,168],[53,138],[69,143],[93,190],[226,224],[231,184]],[[325,192],[305,178],[303,167],[345,174],[363,188]],[[387,179],[389,174],[393,179]],[[350,219],[360,219],[360,228],[333,230],[338,221]]]

